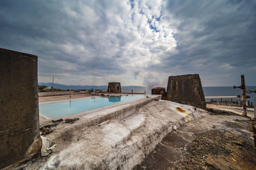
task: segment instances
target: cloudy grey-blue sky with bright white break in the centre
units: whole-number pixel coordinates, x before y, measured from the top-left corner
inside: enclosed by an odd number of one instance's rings
[[[0,47],[38,55],[38,81],[256,85],[256,1],[1,0]],[[148,80],[150,82],[148,82]]]

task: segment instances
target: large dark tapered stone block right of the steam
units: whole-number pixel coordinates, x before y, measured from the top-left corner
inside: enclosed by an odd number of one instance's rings
[[[167,99],[205,109],[204,90],[199,74],[170,76],[167,87]]]

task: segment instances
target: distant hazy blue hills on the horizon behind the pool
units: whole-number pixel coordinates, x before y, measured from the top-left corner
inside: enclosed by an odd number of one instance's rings
[[[46,85],[51,87],[52,83],[38,83],[38,85]],[[54,83],[54,89],[61,89],[61,90],[67,90],[67,89],[72,89],[72,90],[79,90],[79,89],[108,89],[108,85],[62,85],[58,83]],[[142,86],[122,86],[122,89],[136,89],[136,88],[141,88]]]

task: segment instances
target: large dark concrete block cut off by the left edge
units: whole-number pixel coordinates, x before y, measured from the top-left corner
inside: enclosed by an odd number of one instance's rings
[[[37,56],[0,48],[0,169],[40,153]]]

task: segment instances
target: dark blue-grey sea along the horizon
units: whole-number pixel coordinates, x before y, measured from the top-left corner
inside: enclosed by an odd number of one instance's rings
[[[203,87],[204,96],[241,96],[241,89],[234,89],[233,87]],[[246,90],[256,90],[256,86],[246,86]],[[122,89],[122,92],[131,92],[134,93],[144,93],[151,94],[150,90],[145,89],[144,87],[139,87],[136,89]],[[247,96],[251,96],[250,99],[246,99],[247,101],[253,102],[253,99],[256,99],[256,94],[246,94]],[[239,99],[237,99],[239,101]],[[234,99],[236,101],[236,99]]]

